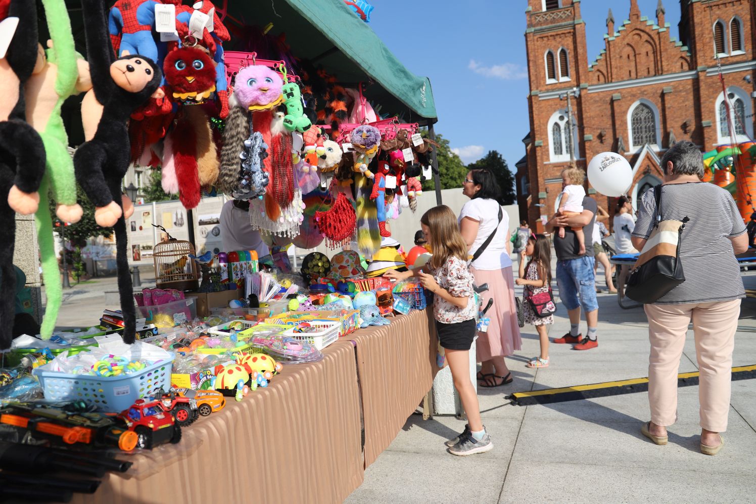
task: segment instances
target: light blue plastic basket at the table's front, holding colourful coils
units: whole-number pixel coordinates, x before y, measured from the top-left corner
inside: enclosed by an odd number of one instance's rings
[[[169,360],[156,362],[132,375],[92,376],[46,371],[45,366],[33,370],[50,402],[84,401],[107,413],[122,412],[135,400],[150,397],[161,388],[171,387],[174,354]]]

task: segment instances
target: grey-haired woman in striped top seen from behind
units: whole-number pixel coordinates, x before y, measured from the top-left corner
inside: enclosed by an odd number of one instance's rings
[[[685,282],[644,306],[651,342],[651,422],[641,432],[656,444],[667,444],[667,427],[677,419],[677,370],[692,319],[700,372],[701,452],[716,455],[724,443],[720,432],[727,429],[735,331],[745,297],[735,254],[748,250],[748,235],[730,193],[701,182],[704,165],[695,144],[683,141],[669,148],[662,170],[662,217],[689,218],[680,238]],[[632,241],[643,250],[656,216],[652,189],[643,194],[637,214]]]

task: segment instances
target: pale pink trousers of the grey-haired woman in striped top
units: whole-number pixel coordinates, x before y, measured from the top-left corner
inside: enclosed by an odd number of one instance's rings
[[[649,318],[649,406],[651,422],[677,420],[677,371],[692,319],[699,363],[699,414],[708,431],[727,430],[730,379],[740,300],[714,303],[646,304]]]

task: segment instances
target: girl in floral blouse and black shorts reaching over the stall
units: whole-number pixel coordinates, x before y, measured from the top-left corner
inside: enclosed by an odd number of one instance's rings
[[[476,335],[475,296],[472,274],[467,270],[467,246],[457,225],[457,216],[445,205],[433,207],[421,218],[423,234],[433,255],[423,269],[389,270],[384,276],[404,280],[420,278],[434,299],[433,316],[438,341],[445,349],[454,387],[460,394],[467,421],[462,434],[448,440],[449,452],[466,456],[490,451],[494,445],[480,419],[476,390],[469,372],[469,350]]]

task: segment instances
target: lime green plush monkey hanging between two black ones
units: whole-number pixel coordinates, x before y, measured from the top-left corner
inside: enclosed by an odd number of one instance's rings
[[[56,213],[63,222],[79,222],[82,208],[76,203],[76,179],[73,160],[68,152],[68,135],[60,117],[66,98],[91,88],[89,67],[76,53],[71,23],[64,0],[42,0],[51,40],[47,54],[39,46],[32,77],[26,82],[26,121],[39,132],[45,144],[47,166],[39,188],[36,213],[37,238],[45,276],[47,307],[42,320],[42,338],[48,339],[63,299],[63,288],[52,234],[48,191],[57,203]]]

